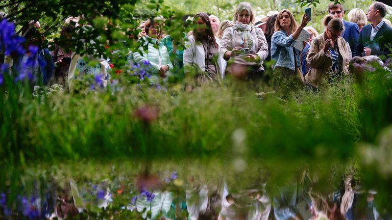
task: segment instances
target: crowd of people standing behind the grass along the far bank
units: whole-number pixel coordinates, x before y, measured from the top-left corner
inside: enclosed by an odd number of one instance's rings
[[[130,52],[127,60],[131,65],[149,63],[152,81],[165,81],[171,74],[185,74],[199,83],[220,81],[228,75],[249,81],[269,82],[271,78],[274,90],[285,96],[302,88],[317,90],[323,79],[328,81],[349,74],[353,57],[379,56],[385,61],[390,53],[387,45],[392,43],[390,21],[384,19],[386,13],[386,6],[375,2],[366,14],[361,9],[351,10],[350,21],[346,21],[342,5],[331,4],[323,20],[324,31],[319,35],[308,26],[309,15],[304,14],[298,24],[287,9],[256,16],[249,3],[240,3],[232,21],[220,21],[215,15],[204,12],[194,15],[193,30],[184,33],[184,49],[164,33],[160,22],[163,18],[146,20],[139,24],[139,38],[144,40],[148,50]],[[367,21],[370,24],[366,25]],[[67,38],[74,32],[77,23],[78,18],[68,18],[61,37]],[[27,31],[23,36],[27,37],[28,44],[43,40],[39,36],[38,21],[33,24],[32,28],[23,30]],[[301,49],[295,45],[304,31],[309,33],[309,38],[299,42],[303,44]],[[38,53],[38,58],[44,61],[38,62],[39,68],[34,70],[40,78],[39,85],[47,85],[54,78],[55,82],[70,87],[71,81],[78,77],[76,71],[100,73],[107,85],[110,69],[107,60],[65,52],[59,46],[55,46],[51,57],[47,56],[47,48],[40,48]],[[26,57],[11,62],[23,62]],[[272,66],[266,62],[270,60],[274,61]],[[86,61],[99,64],[91,67]],[[264,74],[269,67],[273,69],[272,76]]]

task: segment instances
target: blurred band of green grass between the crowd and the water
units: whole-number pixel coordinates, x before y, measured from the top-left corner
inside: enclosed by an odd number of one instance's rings
[[[115,95],[52,94],[48,99],[19,97],[11,89],[1,97],[5,103],[0,106],[2,166],[86,158],[152,162],[189,158],[203,163],[218,158],[239,165],[252,161],[246,169],[266,161],[269,172],[277,172],[276,178],[283,180],[295,176],[299,161],[347,161],[355,157],[356,143],[372,142],[391,122],[386,111],[390,85],[391,79],[377,72],[360,85],[346,79],[320,93],[295,94],[287,102],[274,94],[258,99],[248,84],[234,82],[224,88],[196,88],[192,93],[177,87],[168,92],[127,87]],[[269,90],[257,92],[263,91]],[[135,110],[145,105],[159,108],[157,120],[145,123],[135,117]],[[232,135],[238,128],[246,137],[236,145]],[[220,168],[237,177],[234,171]],[[0,178],[4,180],[0,188],[19,181],[17,175],[14,180],[5,175]]]

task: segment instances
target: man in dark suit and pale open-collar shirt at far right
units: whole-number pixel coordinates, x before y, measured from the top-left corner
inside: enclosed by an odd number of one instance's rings
[[[385,14],[386,6],[384,4],[376,2],[369,6],[366,17],[371,24],[362,28],[354,56],[386,56],[390,53],[386,44],[392,43],[392,28],[382,20]],[[385,60],[386,57],[381,57],[381,59]]]

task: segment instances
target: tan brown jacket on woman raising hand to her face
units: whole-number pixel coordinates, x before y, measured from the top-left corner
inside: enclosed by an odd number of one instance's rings
[[[326,76],[328,76],[329,68],[332,66],[331,53],[327,51],[324,52],[325,45],[325,33],[315,37],[310,43],[310,48],[308,51],[308,56],[306,60],[310,65],[310,70],[306,74],[305,79],[309,84],[318,88],[318,83]],[[343,58],[342,61],[342,73],[349,73],[349,49],[346,46],[346,41],[342,37],[337,40],[338,51]]]

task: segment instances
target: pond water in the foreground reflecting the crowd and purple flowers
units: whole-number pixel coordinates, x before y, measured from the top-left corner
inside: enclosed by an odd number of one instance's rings
[[[377,190],[325,167],[241,159],[31,166],[21,181],[6,180],[0,213],[4,219],[390,219]]]

